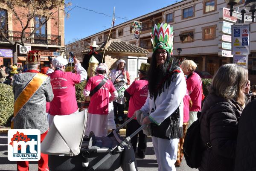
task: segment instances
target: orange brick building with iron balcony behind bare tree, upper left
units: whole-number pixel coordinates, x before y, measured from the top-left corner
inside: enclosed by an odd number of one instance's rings
[[[49,65],[48,56],[55,58],[55,56],[61,55],[60,50],[64,49],[65,17],[64,12],[59,10],[61,8],[64,9],[64,3],[59,8],[52,9],[54,12],[53,17],[50,18],[47,23],[41,27],[41,29],[36,31],[31,39],[25,41],[25,46],[17,46],[18,63],[24,64],[26,61],[26,52],[29,50],[41,51],[41,67]],[[28,9],[23,8],[15,9],[17,14],[27,10]],[[0,3],[0,15],[7,17],[7,20],[1,22],[6,30],[6,37],[13,41],[20,40],[22,26],[20,22],[15,20],[15,16],[12,11],[3,3]],[[25,35],[29,35],[34,28],[39,27],[41,23],[37,21],[44,20],[44,18],[44,16],[35,16],[30,21],[29,26],[25,31]],[[21,22],[24,24],[27,22],[27,19],[21,19]],[[0,64],[7,66],[8,62],[13,63],[12,45],[0,35]]]

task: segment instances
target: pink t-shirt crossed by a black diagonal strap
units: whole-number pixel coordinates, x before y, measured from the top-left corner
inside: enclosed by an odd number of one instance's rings
[[[104,75],[96,75],[89,78],[86,86],[84,87],[87,91],[92,91],[104,78]],[[116,91],[113,83],[110,80],[107,82],[90,98],[90,104],[88,112],[91,114],[107,115],[108,114],[108,103],[109,93]]]

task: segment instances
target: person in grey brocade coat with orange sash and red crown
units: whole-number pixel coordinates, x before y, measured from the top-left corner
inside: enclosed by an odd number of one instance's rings
[[[29,51],[27,64],[38,67],[40,56],[38,51]],[[37,69],[28,70],[25,73],[15,74],[13,77],[14,93],[14,129],[38,129],[41,132],[41,142],[48,132],[46,102],[52,101],[53,93],[49,77],[39,73]],[[26,92],[26,93],[24,93]],[[24,100],[25,99],[25,100]],[[24,102],[25,101],[25,102]],[[18,161],[17,171],[28,171],[28,161]],[[38,161],[38,171],[46,171],[48,168],[48,155],[41,153]]]

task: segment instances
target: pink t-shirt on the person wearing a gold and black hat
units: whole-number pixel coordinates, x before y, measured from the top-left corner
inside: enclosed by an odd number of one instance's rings
[[[134,112],[144,105],[148,97],[148,81],[134,81],[126,91],[131,96],[128,109],[128,118],[131,118],[134,115]]]

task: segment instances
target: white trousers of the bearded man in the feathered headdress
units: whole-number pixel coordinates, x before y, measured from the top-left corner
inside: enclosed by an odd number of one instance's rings
[[[162,139],[152,136],[154,152],[157,157],[158,171],[176,171],[179,139]]]

